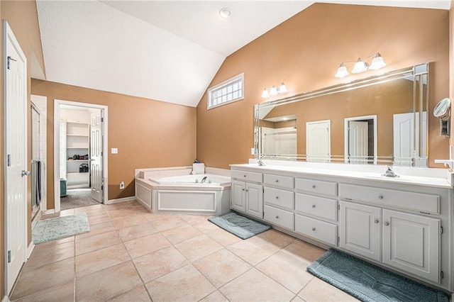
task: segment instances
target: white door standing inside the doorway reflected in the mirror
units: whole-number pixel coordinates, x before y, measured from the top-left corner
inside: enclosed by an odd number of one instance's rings
[[[369,154],[369,124],[367,122],[348,122],[348,157],[350,163],[367,164]]]

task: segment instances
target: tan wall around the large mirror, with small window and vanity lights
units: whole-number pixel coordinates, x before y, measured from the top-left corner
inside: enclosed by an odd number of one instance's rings
[[[433,62],[428,112],[449,86],[448,11],[314,4],[226,58],[210,86],[244,72],[245,99],[211,110],[206,94],[197,106],[197,157],[210,167],[247,162],[253,147],[253,105],[265,87],[285,82],[287,95],[313,91],[373,74]],[[343,61],[380,52],[387,67],[336,79]],[[352,66],[349,65],[349,68]],[[448,156],[448,139],[428,119],[428,155]]]

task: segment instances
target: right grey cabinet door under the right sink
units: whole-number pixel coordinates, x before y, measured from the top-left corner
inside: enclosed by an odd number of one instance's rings
[[[439,283],[440,220],[383,210],[383,263]]]

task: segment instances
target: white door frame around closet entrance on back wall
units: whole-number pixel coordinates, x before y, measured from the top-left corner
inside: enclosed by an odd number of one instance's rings
[[[80,103],[77,101],[64,101],[64,100],[54,100],[54,210],[55,212],[60,212],[60,105],[70,105],[70,106],[78,106],[78,107],[85,107],[85,108],[95,108],[104,110],[104,123],[102,124],[103,128],[103,138],[102,138],[102,164],[103,164],[103,171],[102,177],[104,182],[103,188],[103,203],[106,204],[108,199],[108,190],[106,188],[106,184],[108,182],[108,170],[107,170],[107,121],[108,121],[108,112],[107,106],[98,105],[98,104],[89,104],[89,103]]]

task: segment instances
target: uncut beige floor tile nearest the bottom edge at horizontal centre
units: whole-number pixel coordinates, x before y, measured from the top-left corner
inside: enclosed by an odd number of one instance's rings
[[[223,286],[252,268],[250,264],[226,249],[211,253],[193,264],[216,288]]]

